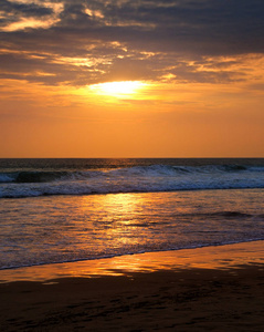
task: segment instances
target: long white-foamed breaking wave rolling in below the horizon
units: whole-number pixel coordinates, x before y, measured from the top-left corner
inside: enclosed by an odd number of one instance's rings
[[[239,188],[264,188],[264,167],[151,165],[0,173],[0,198]]]

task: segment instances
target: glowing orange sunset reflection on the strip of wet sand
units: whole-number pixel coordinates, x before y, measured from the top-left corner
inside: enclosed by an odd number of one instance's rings
[[[0,282],[46,281],[60,278],[99,278],[182,269],[232,269],[245,264],[264,268],[263,241],[219,247],[146,252],[107,259],[45,264],[0,271]]]

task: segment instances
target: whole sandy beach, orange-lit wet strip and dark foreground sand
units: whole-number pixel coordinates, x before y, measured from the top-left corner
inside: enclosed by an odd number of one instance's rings
[[[263,262],[255,241],[2,271],[1,331],[263,331]]]

